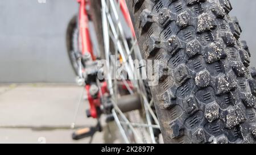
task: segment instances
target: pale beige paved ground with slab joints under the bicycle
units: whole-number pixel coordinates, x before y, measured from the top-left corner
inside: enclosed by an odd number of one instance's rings
[[[89,139],[73,141],[69,128],[81,91],[81,87],[73,85],[0,86],[0,143],[88,143]],[[96,120],[86,118],[88,103],[83,103],[77,125],[96,124]],[[94,136],[92,143],[117,141],[102,132]]]

